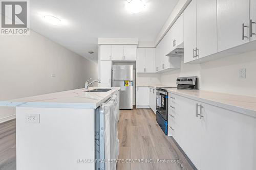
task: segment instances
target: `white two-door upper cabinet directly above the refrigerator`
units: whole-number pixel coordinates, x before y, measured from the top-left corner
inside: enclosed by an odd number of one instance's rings
[[[112,60],[136,61],[137,45],[112,45]]]

